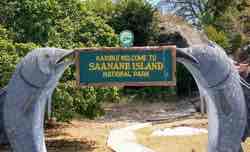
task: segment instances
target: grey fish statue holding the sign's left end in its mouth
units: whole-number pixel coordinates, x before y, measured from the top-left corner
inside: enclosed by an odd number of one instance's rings
[[[64,60],[72,52],[35,49],[17,65],[1,101],[4,129],[13,152],[47,151],[43,132],[45,106],[65,69],[73,63]]]

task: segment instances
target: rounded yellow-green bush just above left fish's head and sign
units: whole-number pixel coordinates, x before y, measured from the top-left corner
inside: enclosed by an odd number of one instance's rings
[[[90,15],[79,20],[66,17],[56,22],[49,33],[49,46],[79,48],[116,46],[118,37],[101,17]]]

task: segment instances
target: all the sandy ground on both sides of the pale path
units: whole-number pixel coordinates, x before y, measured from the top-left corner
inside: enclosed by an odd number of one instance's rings
[[[206,128],[207,119],[199,114],[173,119],[172,113],[183,113],[190,105],[183,102],[168,103],[120,103],[105,106],[106,115],[96,120],[76,119],[70,123],[55,123],[46,129],[48,152],[112,152],[106,141],[109,131],[148,119],[166,118],[164,123],[136,132],[141,144],[156,152],[205,152],[207,135],[192,137],[151,137],[156,128],[192,126]],[[158,123],[158,122],[157,122]],[[244,144],[250,152],[250,140]],[[249,149],[249,150],[248,150]],[[8,146],[0,146],[0,152],[10,152]]]

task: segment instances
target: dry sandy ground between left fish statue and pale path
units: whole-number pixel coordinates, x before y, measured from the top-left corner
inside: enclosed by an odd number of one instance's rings
[[[46,130],[48,152],[112,152],[106,146],[109,131],[126,125],[125,122],[73,120],[63,128]]]

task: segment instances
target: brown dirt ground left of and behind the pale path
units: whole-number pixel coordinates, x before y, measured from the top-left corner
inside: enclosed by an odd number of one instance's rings
[[[48,152],[112,152],[106,144],[109,132],[147,119],[178,117],[192,112],[187,102],[124,103],[105,106],[106,115],[97,120],[73,120],[56,123],[46,129]],[[10,152],[8,146],[0,152]]]

